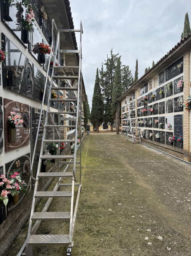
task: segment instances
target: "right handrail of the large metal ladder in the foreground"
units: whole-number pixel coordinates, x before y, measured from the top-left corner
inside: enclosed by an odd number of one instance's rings
[[[81,59],[82,59],[82,21],[80,21],[80,46],[79,46],[79,71],[78,71],[78,96],[77,96],[77,99],[79,99],[79,89],[80,89],[79,85],[80,85],[80,81],[81,81]],[[80,99],[80,101],[81,100],[82,99]],[[82,109],[81,109],[81,111],[82,111]],[[77,110],[76,110],[76,131],[75,131],[75,143],[74,143],[73,178],[75,181],[76,181],[75,169],[76,169],[76,151],[77,151],[76,149],[77,149],[77,139],[78,139],[78,115],[79,115],[79,100],[77,102]]]

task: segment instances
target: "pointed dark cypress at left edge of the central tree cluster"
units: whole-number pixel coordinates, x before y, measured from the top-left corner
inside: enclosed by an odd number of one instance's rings
[[[94,94],[92,98],[92,111],[91,111],[91,122],[97,132],[99,132],[99,126],[103,121],[104,114],[104,102],[101,94],[101,88],[99,84],[99,73],[98,68],[95,77]]]

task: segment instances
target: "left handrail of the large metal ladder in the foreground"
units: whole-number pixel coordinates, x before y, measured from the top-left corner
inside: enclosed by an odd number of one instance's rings
[[[55,24],[55,21],[52,19],[52,43],[51,43],[51,48],[50,48],[50,55],[53,51],[54,53],[54,49],[53,49],[53,25],[55,25],[56,29],[57,26]],[[46,93],[46,87],[47,87],[47,81],[48,81],[48,76],[49,76],[49,67],[50,67],[50,59],[49,58],[49,64],[47,67],[47,75],[46,75],[46,80],[45,80],[45,86],[44,86],[44,93],[43,93],[43,97],[42,97],[42,105],[41,105],[41,109],[40,109],[40,116],[39,116],[39,123],[38,123],[38,128],[37,128],[37,134],[36,134],[36,139],[35,139],[35,144],[34,144],[34,150],[33,150],[33,155],[32,155],[32,162],[31,162],[31,169],[30,169],[30,176],[33,180],[36,180],[36,178],[33,177],[32,175],[32,169],[33,169],[33,165],[34,165],[34,157],[35,157],[35,152],[36,152],[36,146],[37,146],[37,141],[38,141],[38,135],[39,135],[39,129],[40,129],[40,121],[42,118],[42,111],[43,111],[43,105],[44,105],[44,98],[45,98],[45,93]],[[31,182],[31,186],[32,186],[32,182]]]

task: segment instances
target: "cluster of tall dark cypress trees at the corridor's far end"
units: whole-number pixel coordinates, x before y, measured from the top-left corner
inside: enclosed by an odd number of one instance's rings
[[[113,123],[115,122],[116,132],[119,134],[121,104],[118,98],[123,92],[128,90],[136,81],[138,81],[138,59],[136,59],[136,68],[134,78],[128,65],[122,65],[119,53],[113,54],[102,62],[101,69],[97,68],[94,94],[92,98],[91,122],[97,132],[102,122],[111,123],[111,132],[113,132]]]

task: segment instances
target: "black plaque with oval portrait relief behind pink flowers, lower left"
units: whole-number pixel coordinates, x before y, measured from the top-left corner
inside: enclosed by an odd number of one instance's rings
[[[10,172],[18,172],[21,175],[22,180],[27,184],[26,190],[29,191],[30,187],[30,153],[26,155],[22,155],[8,163],[5,164],[5,174],[6,178],[10,175]],[[19,201],[18,204],[13,205],[12,200],[8,201],[8,211],[13,210],[16,206],[19,205],[23,197],[26,196],[27,193],[20,192],[19,193]]]

